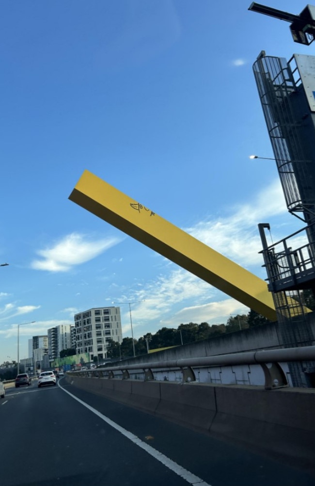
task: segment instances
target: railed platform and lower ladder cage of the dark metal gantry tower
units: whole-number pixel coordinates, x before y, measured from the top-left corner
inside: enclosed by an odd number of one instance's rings
[[[306,235],[301,237],[301,233],[309,227],[268,246],[263,228],[269,225],[259,226],[264,248],[260,253],[264,257],[263,266],[266,267],[268,288],[272,293],[283,346],[312,346],[315,336],[306,315],[309,310],[303,290],[314,288],[315,260],[311,248],[314,243],[308,243]],[[299,243],[298,248],[295,243]],[[305,371],[314,367],[315,362],[290,363],[293,386],[305,386]]]

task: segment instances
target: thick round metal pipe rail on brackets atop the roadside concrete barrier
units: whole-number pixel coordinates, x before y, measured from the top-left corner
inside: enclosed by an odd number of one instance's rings
[[[154,380],[153,369],[177,368],[182,372],[182,382],[195,382],[194,367],[230,366],[241,364],[259,364],[265,375],[265,389],[271,390],[288,386],[284,370],[279,363],[296,361],[315,361],[315,346],[293,347],[286,349],[271,349],[268,351],[249,351],[244,353],[220,354],[201,358],[184,358],[179,360],[137,363],[118,366],[106,366],[84,371],[68,371],[68,375],[90,378],[115,378],[116,372],[122,372],[116,378],[127,380],[129,371],[143,370],[144,381]]]

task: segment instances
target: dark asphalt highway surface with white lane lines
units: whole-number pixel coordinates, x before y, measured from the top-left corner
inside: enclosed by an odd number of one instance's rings
[[[63,378],[7,389],[0,400],[1,486],[314,486],[315,477],[294,466]]]

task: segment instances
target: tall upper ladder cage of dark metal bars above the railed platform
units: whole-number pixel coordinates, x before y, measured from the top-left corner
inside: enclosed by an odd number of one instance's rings
[[[299,76],[285,58],[274,56],[260,56],[253,72],[287,208],[292,213],[307,212],[308,206],[314,208],[314,191],[307,190],[312,162],[304,153],[303,127],[294,112],[295,97],[302,89]]]

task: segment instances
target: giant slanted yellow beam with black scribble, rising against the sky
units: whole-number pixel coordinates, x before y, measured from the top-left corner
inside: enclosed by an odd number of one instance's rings
[[[254,311],[276,320],[267,283],[153,210],[84,171],[69,199]]]

